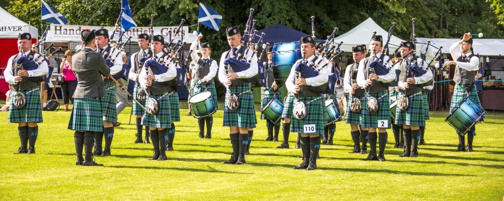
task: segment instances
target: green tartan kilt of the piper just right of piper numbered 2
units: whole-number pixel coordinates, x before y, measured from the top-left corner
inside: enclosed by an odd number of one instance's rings
[[[404,93],[400,93],[397,97],[403,96]],[[425,126],[425,106],[422,92],[416,92],[408,97],[409,106],[406,110],[401,110],[399,107],[396,108],[396,120],[394,124],[396,125],[408,125],[408,126]]]

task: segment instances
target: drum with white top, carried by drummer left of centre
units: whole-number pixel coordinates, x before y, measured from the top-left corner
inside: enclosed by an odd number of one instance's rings
[[[189,98],[189,105],[193,109],[193,115],[196,118],[205,118],[217,112],[217,107],[210,91],[203,91],[191,96]]]

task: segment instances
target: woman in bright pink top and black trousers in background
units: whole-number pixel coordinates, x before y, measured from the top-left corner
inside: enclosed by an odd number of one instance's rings
[[[61,90],[63,91],[63,103],[65,104],[65,111],[68,111],[69,101],[72,100],[74,104],[75,88],[77,87],[77,78],[75,77],[74,71],[72,71],[72,51],[67,50],[65,52],[66,58],[63,59],[60,65],[60,72],[63,75],[64,82],[61,84]]]

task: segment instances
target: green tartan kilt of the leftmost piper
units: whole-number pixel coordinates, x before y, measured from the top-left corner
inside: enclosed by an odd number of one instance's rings
[[[42,121],[42,109],[40,106],[40,87],[34,86],[21,91],[25,94],[26,104],[22,108],[14,106],[14,94],[11,93],[11,101],[9,103],[9,123],[18,122],[37,122]]]

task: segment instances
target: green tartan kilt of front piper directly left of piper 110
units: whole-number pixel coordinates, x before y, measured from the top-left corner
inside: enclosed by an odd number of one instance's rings
[[[226,91],[226,99],[224,103],[223,126],[256,128],[257,118],[256,112],[254,110],[254,96],[252,91],[250,90],[249,84],[245,83],[238,86],[230,86],[227,90],[228,91]],[[243,91],[250,90],[241,95],[238,95],[238,97],[240,98],[240,107],[238,108],[238,110],[230,110],[227,107],[229,90],[231,90],[236,95]]]

